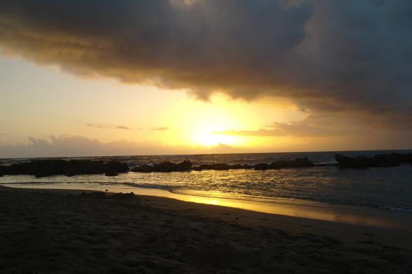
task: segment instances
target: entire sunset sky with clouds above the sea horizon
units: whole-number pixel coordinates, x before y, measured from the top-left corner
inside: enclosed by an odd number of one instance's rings
[[[0,3],[0,158],[412,148],[412,3]]]

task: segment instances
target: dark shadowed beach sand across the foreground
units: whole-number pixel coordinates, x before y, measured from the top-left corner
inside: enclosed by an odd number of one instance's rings
[[[0,187],[0,273],[412,273],[412,232]]]

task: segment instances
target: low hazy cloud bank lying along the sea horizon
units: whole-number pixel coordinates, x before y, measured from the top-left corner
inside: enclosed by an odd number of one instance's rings
[[[333,150],[365,150],[365,149],[409,149],[412,131],[409,135],[399,135],[386,130],[372,130],[359,134],[336,136],[333,141],[329,138],[314,138],[311,151]],[[379,136],[379,138],[374,138]],[[27,144],[2,144],[2,158],[35,158],[35,157],[75,157],[75,156],[104,156],[104,155],[165,155],[165,154],[199,154],[199,153],[250,153],[274,151],[308,151],[306,142],[277,143],[265,147],[232,147],[219,144],[212,147],[204,146],[168,146],[161,142],[130,142],[116,140],[101,142],[84,136],[50,136],[49,138],[29,137]]]

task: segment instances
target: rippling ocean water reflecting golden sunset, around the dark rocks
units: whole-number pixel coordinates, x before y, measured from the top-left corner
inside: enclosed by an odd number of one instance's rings
[[[104,175],[52,176],[36,178],[30,175],[5,175],[0,185],[41,188],[154,188],[180,195],[215,197],[265,203],[317,202],[328,205],[346,205],[378,208],[412,213],[412,166],[402,164],[389,168],[340,169],[335,153],[373,156],[380,153],[410,153],[412,151],[330,151],[304,153],[244,153],[208,155],[152,155],[83,157],[90,160],[118,160],[130,167],[164,161],[191,160],[194,165],[227,163],[257,164],[276,160],[307,157],[315,164],[310,168],[280,170],[189,171],[173,173],[134,173],[117,177]],[[73,158],[63,158],[73,159]],[[76,158],[74,158],[76,159]],[[80,158],[77,158],[80,159]],[[0,164],[12,164],[32,159],[2,159]]]

